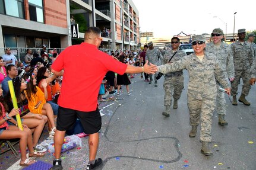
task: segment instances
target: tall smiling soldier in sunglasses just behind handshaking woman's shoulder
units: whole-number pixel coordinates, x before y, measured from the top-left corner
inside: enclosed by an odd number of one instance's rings
[[[225,76],[232,82],[235,76],[233,56],[230,53],[230,46],[222,41],[223,31],[220,28],[215,28],[211,33],[211,43],[206,44],[206,52],[213,53],[217,56],[220,66],[224,70]],[[222,88],[222,85],[217,81],[217,87]],[[225,115],[227,111],[227,104],[225,100],[225,93],[217,90],[217,114],[219,114],[219,125],[227,126]]]

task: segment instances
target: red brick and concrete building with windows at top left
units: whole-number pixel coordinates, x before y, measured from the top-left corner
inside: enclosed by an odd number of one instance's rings
[[[0,47],[70,46],[67,7],[68,0],[0,0]]]

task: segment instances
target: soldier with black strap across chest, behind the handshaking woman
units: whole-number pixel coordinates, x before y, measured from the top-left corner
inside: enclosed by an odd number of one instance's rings
[[[187,56],[187,54],[179,50],[179,38],[172,37],[171,40],[172,49],[168,49],[163,56],[163,64],[176,62],[182,57]],[[173,56],[174,54],[174,56]],[[173,56],[173,57],[172,57]],[[170,58],[172,59],[170,60]],[[169,62],[170,60],[170,62]],[[184,76],[183,71],[179,70],[176,72],[170,72],[165,75],[165,81],[163,82],[163,89],[165,89],[164,105],[165,111],[163,111],[163,116],[170,116],[170,105],[172,105],[173,96],[173,108],[178,108],[178,100],[181,97],[181,92],[184,88]],[[172,95],[173,92],[173,95]]]

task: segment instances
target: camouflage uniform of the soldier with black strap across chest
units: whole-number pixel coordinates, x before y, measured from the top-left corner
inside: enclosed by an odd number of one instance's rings
[[[163,56],[163,64],[168,63],[170,57],[172,57],[174,53],[175,52],[172,50],[166,50],[165,56]],[[187,56],[187,54],[182,50],[178,50],[175,56],[172,57],[172,60],[170,60],[170,62],[176,62],[182,59],[182,57],[184,56]],[[165,75],[165,81],[163,81],[163,89],[165,90],[164,105],[172,105],[172,89],[173,99],[179,100],[183,88],[184,76],[182,70],[167,73]]]

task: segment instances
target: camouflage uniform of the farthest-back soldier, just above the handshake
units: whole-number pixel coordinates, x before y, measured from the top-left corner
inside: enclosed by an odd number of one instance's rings
[[[147,49],[146,60],[148,60],[149,63],[159,66],[162,63],[162,59],[163,59],[163,56],[159,49],[156,49],[155,47],[152,50]],[[156,79],[157,73],[158,72],[156,72],[154,75],[154,81],[157,81],[157,79]],[[152,81],[151,74],[149,75],[149,77],[150,77],[150,80]]]

